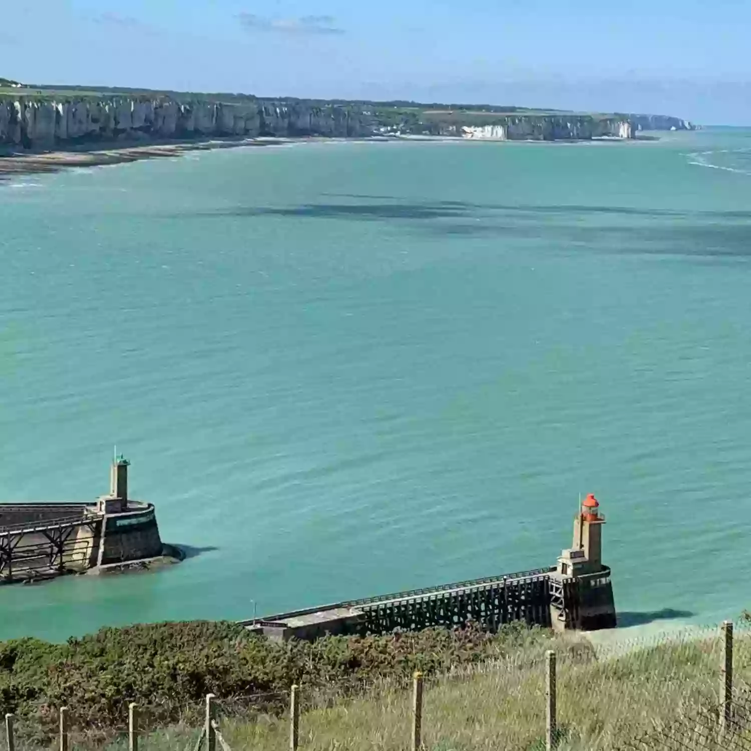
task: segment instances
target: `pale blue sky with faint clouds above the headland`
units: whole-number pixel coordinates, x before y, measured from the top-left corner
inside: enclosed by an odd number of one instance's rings
[[[0,0],[0,76],[751,125],[749,0]]]

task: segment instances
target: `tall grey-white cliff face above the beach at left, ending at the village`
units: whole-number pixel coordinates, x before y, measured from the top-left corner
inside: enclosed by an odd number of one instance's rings
[[[26,101],[0,98],[0,144],[25,148],[83,141],[204,136],[357,137],[375,134],[372,119],[348,107],[263,101],[212,104],[171,99]]]

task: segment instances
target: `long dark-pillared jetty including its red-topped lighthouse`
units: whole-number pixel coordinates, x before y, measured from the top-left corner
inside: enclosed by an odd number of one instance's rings
[[[312,640],[327,634],[385,634],[395,629],[460,626],[489,629],[524,621],[556,630],[611,629],[617,616],[611,570],[602,563],[599,502],[588,495],[574,519],[572,547],[555,566],[322,605],[258,619],[247,629],[275,639]]]

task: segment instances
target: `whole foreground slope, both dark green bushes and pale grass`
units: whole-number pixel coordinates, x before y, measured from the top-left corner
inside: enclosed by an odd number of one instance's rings
[[[295,682],[303,748],[397,751],[409,744],[409,683],[420,669],[427,675],[427,749],[534,751],[544,735],[544,654],[551,647],[559,664],[561,749],[619,749],[656,724],[719,701],[716,630],[615,651],[520,626],[498,635],[430,629],[273,644],[230,623],[174,623],[104,629],[63,645],[3,644],[0,711],[17,713],[20,749],[49,746],[63,704],[77,747],[124,749],[127,704],[137,701],[150,733],[143,747],[182,751],[195,743],[201,701],[213,692],[235,751],[284,749]],[[735,665],[740,688],[751,665],[746,635],[737,635]]]

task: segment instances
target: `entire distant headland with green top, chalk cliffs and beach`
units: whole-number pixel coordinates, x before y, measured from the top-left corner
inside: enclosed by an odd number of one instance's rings
[[[643,137],[644,131],[693,129],[691,122],[664,115],[62,88],[0,78],[0,175],[116,164],[264,139],[627,140]]]

